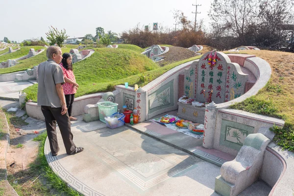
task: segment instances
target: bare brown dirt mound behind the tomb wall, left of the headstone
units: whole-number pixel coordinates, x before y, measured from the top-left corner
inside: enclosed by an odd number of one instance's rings
[[[182,47],[169,47],[169,48],[170,50],[164,55],[162,55],[164,57],[164,60],[158,62],[160,66],[168,65],[173,62],[185,60],[185,59],[196,56],[196,53],[189,49],[185,49]]]

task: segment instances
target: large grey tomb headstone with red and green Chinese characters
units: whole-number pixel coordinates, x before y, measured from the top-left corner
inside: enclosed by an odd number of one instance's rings
[[[210,54],[216,55],[215,65],[209,64]],[[227,102],[245,93],[247,80],[248,74],[226,54],[207,52],[185,70],[185,95],[201,102]]]

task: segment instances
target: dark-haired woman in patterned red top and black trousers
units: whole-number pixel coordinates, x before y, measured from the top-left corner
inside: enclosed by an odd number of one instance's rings
[[[70,53],[64,53],[62,55],[62,60],[60,66],[63,71],[63,77],[65,84],[62,85],[63,92],[65,95],[66,106],[68,108],[69,116],[71,121],[76,121],[77,119],[72,117],[74,94],[78,88],[78,84],[75,82],[75,77],[73,74],[73,56]]]

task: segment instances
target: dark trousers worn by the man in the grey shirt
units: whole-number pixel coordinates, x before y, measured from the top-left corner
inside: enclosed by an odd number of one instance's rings
[[[49,139],[50,149],[52,154],[57,154],[59,151],[56,134],[56,122],[60,129],[62,140],[66,149],[66,153],[70,154],[74,151],[73,133],[71,131],[71,121],[68,113],[61,115],[61,107],[54,108],[49,106],[41,106],[42,113],[45,117],[47,135]]]

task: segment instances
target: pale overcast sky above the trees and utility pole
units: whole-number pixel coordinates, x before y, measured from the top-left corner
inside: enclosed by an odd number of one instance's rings
[[[211,0],[197,0],[198,19],[208,25]],[[121,33],[139,24],[158,22],[174,28],[173,10],[181,10],[195,20],[196,0],[0,0],[0,40],[21,42],[25,39],[46,40],[49,26],[65,28],[72,37],[96,34],[98,26],[107,32]]]

